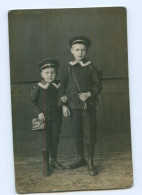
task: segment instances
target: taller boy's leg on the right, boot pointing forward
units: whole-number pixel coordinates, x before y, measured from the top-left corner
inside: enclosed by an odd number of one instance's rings
[[[82,124],[84,132],[84,141],[87,148],[87,168],[91,176],[97,174],[97,170],[94,167],[94,146],[96,139],[96,128],[97,128],[96,113],[90,111],[82,112]]]

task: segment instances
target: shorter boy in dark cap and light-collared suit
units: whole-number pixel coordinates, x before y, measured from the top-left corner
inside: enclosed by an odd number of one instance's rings
[[[52,168],[64,169],[57,161],[62,117],[61,108],[58,107],[60,82],[55,80],[58,67],[59,63],[54,59],[47,58],[40,62],[42,80],[34,86],[31,93],[33,118],[38,117],[44,121],[44,129],[36,131],[44,160],[44,176],[50,176]],[[49,163],[50,153],[51,162]]]

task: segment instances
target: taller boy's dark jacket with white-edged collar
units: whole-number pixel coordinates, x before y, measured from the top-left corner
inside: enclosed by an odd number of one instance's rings
[[[97,106],[97,95],[102,90],[102,74],[101,71],[98,71],[92,62],[87,59],[83,59],[81,64],[73,60],[63,69],[59,100],[64,94],[66,94],[68,106],[71,109],[84,108],[84,103],[78,97],[80,91],[77,87],[73,74],[75,75],[81,92],[91,93],[91,97],[89,97],[86,101],[88,107],[91,104]],[[64,105],[64,103],[62,103],[62,105]]]

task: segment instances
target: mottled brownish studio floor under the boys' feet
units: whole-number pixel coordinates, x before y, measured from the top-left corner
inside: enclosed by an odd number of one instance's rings
[[[60,157],[59,161],[70,164],[75,157]],[[18,193],[36,193],[72,190],[96,190],[128,188],[132,186],[131,155],[125,154],[98,154],[94,158],[98,169],[97,176],[90,176],[87,167],[75,170],[53,170],[50,177],[42,176],[42,159],[16,158],[15,177]]]

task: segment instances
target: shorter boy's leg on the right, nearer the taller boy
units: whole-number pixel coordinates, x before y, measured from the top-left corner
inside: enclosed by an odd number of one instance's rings
[[[51,168],[63,170],[64,167],[57,161],[57,150],[61,132],[61,121],[52,121],[51,134]]]

